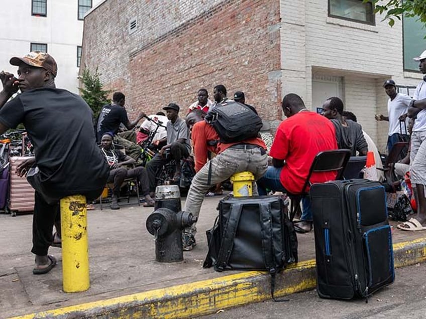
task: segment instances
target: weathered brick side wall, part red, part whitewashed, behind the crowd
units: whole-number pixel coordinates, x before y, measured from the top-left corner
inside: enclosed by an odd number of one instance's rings
[[[127,109],[187,108],[198,88],[246,92],[265,119],[281,116],[278,0],[179,2],[108,0],[85,19],[83,63],[126,94]],[[129,34],[127,23],[138,20]]]

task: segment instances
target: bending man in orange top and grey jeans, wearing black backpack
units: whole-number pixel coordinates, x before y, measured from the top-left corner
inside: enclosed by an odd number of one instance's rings
[[[235,120],[235,116],[239,116],[240,120]],[[195,110],[186,116],[197,174],[192,179],[184,211],[195,217],[198,217],[204,196],[213,185],[244,171],[253,173],[255,180],[258,180],[268,167],[266,145],[257,137],[262,120],[250,108],[234,101],[225,101],[210,109],[205,115],[206,120],[203,117],[202,112]],[[223,119],[225,123],[221,122]],[[235,125],[228,125],[228,122]],[[240,135],[236,132],[240,132]],[[218,155],[208,160],[208,150]],[[253,195],[257,195],[256,183],[253,185]],[[195,224],[183,231],[183,250],[192,250],[196,245],[195,233]]]

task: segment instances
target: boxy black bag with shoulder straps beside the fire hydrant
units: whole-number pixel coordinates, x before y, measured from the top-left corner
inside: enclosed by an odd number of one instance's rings
[[[297,262],[297,238],[288,220],[288,200],[278,196],[229,197],[206,232],[208,253],[203,267],[223,270],[267,270],[274,298],[274,276]]]

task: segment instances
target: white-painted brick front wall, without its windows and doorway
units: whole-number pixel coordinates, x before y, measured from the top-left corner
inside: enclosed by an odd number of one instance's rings
[[[297,93],[310,107],[312,68],[343,76],[345,108],[383,151],[388,126],[374,119],[387,113],[383,81],[416,85],[420,79],[403,72],[402,24],[390,28],[380,15],[375,26],[331,18],[327,0],[281,0],[280,10],[283,95]]]

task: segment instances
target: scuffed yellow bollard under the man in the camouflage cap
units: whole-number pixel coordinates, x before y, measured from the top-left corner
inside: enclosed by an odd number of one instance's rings
[[[65,292],[90,287],[86,198],[72,195],[61,199],[62,277]]]

